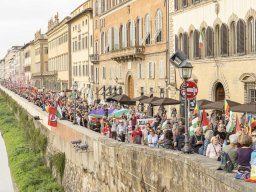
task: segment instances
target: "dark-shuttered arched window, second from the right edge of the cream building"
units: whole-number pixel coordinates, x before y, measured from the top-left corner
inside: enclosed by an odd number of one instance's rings
[[[239,19],[237,22],[237,53],[245,54],[245,22]]]

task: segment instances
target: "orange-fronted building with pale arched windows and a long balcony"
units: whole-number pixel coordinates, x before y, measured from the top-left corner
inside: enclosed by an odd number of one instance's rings
[[[168,2],[94,0],[95,94],[167,96]]]

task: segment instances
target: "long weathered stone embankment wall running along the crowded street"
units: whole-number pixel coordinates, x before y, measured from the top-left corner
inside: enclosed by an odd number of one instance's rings
[[[116,142],[67,121],[49,127],[45,112],[0,88],[31,116],[43,119],[35,125],[48,137],[48,152],[65,152],[62,184],[67,192],[255,191],[254,184],[234,180],[234,173],[217,171],[219,163],[203,156]],[[70,142],[77,139],[89,145],[87,152],[76,151]]]

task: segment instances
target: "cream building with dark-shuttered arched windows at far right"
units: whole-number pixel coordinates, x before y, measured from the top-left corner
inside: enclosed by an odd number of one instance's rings
[[[194,67],[197,99],[256,101],[256,1],[175,0],[174,8],[171,40]]]

